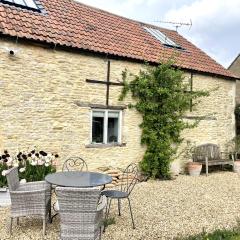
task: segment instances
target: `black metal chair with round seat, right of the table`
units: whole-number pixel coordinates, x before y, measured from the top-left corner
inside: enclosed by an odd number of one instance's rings
[[[133,229],[135,229],[135,223],[133,219],[133,213],[132,213],[132,207],[130,202],[130,194],[135,187],[136,183],[139,181],[139,171],[136,164],[130,164],[123,174],[120,177],[120,185],[118,186],[118,189],[112,189],[112,190],[104,190],[102,191],[102,195],[107,197],[107,208],[106,208],[106,215],[105,215],[105,221],[107,221],[110,208],[111,208],[111,202],[112,199],[118,200],[118,214],[121,216],[121,200],[127,199],[129,204],[129,210],[132,218],[132,226]],[[105,231],[105,228],[104,228]]]

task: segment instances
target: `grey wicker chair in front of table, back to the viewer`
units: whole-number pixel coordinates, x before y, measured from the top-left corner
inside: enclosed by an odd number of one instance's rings
[[[101,239],[103,210],[106,197],[94,188],[57,187],[62,240]]]

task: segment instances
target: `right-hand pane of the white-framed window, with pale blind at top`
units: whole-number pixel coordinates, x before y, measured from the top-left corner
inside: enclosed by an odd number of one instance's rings
[[[118,142],[118,112],[108,113],[108,143]]]

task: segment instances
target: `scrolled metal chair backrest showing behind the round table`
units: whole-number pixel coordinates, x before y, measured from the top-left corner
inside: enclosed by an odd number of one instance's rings
[[[88,171],[88,166],[81,157],[70,157],[64,162],[62,171]]]

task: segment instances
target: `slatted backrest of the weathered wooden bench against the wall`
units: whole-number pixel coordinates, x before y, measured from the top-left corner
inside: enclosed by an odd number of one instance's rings
[[[220,148],[216,144],[203,144],[197,146],[193,152],[193,161],[205,161],[205,158],[208,157],[208,160],[219,160],[221,158]]]

